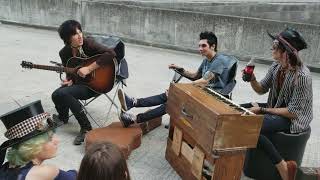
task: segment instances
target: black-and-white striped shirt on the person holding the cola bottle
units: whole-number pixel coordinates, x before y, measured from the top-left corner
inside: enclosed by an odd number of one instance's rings
[[[313,118],[312,112],[312,79],[309,69],[302,65],[297,71],[289,71],[283,81],[281,90],[277,91],[277,74],[281,65],[274,62],[266,76],[260,81],[264,93],[269,92],[268,107],[287,107],[288,111],[296,115],[292,119],[290,132],[298,133],[309,128]]]

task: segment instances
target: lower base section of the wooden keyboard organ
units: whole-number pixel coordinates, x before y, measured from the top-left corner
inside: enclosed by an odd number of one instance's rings
[[[171,129],[165,157],[182,179],[240,180],[245,150],[207,153],[177,126]]]

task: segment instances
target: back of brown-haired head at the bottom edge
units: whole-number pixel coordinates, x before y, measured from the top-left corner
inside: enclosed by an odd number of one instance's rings
[[[112,143],[96,143],[84,155],[77,180],[130,180],[126,159]]]

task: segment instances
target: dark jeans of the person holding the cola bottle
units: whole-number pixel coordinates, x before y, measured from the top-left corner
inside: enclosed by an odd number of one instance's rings
[[[258,103],[260,107],[266,107],[265,103]],[[242,107],[250,108],[252,107],[251,103],[241,104]],[[266,113],[263,116],[262,127],[257,143],[257,148],[264,151],[266,155],[270,158],[273,164],[278,164],[282,161],[282,157],[277,149],[274,147],[272,142],[269,140],[268,136],[277,132],[286,132],[290,133],[290,119]]]

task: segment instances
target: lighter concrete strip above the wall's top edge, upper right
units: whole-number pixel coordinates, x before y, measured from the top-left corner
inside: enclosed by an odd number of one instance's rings
[[[176,9],[192,12],[214,13],[241,17],[280,20],[303,24],[320,24],[320,3],[227,3],[222,2],[154,2],[154,1],[112,1],[125,5],[135,5],[150,8]]]

